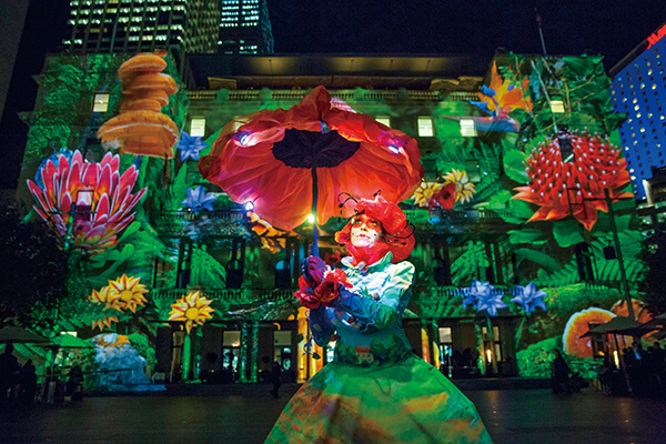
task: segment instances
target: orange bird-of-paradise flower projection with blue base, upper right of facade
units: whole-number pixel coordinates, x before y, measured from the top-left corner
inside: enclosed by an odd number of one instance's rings
[[[497,131],[497,132],[518,132],[521,124],[512,117],[509,112],[516,109],[532,111],[533,104],[529,94],[529,78],[524,78],[521,87],[512,84],[497,72],[497,64],[493,63],[491,84],[481,87],[481,92],[476,94],[480,101],[470,102],[480,108],[491,117],[450,117],[447,119],[462,120],[471,119],[474,121],[474,128],[477,131]]]

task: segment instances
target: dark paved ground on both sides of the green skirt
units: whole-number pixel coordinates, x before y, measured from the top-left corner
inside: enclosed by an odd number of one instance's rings
[[[2,443],[262,443],[296,386],[273,400],[269,386],[208,395],[88,397],[63,406],[0,413]],[[546,390],[465,391],[496,444],[664,444],[666,402],[566,398]]]

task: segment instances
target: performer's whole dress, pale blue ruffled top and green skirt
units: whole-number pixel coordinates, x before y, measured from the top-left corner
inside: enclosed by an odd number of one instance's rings
[[[411,352],[402,329],[414,266],[343,265],[352,289],[312,310],[315,341],[340,339],[326,364],[289,402],[266,443],[492,443],[476,408]]]

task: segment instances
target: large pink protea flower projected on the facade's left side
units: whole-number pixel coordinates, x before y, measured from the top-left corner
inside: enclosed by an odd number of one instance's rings
[[[107,153],[101,162],[83,161],[81,152],[71,159],[59,155],[41,168],[43,185],[28,180],[38,202],[37,213],[62,238],[94,255],[118,244],[118,234],[133,220],[132,208],[147,189],[132,194],[138,171],[130,167],[122,175],[120,158]],[[74,206],[75,205],[75,206]]]

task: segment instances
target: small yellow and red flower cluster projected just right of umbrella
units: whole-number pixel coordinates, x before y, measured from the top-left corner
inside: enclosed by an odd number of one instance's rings
[[[412,199],[418,206],[452,210],[457,202],[468,202],[474,194],[474,184],[463,170],[451,170],[442,176],[443,182],[421,182]]]

